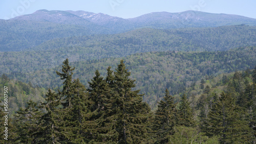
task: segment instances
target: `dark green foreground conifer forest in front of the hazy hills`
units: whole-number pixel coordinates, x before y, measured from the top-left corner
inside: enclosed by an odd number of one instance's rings
[[[247,68],[196,81],[200,87],[197,84],[187,87],[178,101],[166,88],[155,111],[142,101],[143,94],[135,88],[133,73],[124,60],[114,70],[109,66],[105,77],[95,70],[88,87],[73,77],[75,69],[66,59],[61,71],[55,71],[62,80],[61,89],[48,89],[43,101],[30,100],[15,112],[8,123],[11,142],[253,143],[256,140],[256,66],[253,70]],[[12,81],[5,75],[1,80],[1,85]],[[26,87],[23,83],[18,85]],[[4,122],[3,111],[1,115]]]

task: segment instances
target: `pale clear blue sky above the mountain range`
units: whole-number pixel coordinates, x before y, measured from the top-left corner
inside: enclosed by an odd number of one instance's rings
[[[0,0],[0,19],[31,14],[37,10],[83,10],[122,18],[151,12],[196,10],[256,18],[255,0]]]

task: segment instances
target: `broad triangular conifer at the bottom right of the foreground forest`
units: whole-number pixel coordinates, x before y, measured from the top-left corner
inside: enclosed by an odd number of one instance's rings
[[[220,100],[209,111],[209,122],[205,132],[208,136],[220,135],[221,143],[249,143],[252,138],[251,130],[241,119],[234,98],[225,93],[221,93]]]

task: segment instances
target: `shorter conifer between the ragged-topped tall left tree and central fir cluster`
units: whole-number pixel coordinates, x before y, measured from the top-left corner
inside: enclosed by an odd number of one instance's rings
[[[79,79],[74,80],[70,87],[72,95],[72,107],[66,108],[65,118],[66,121],[65,131],[69,135],[69,141],[73,143],[84,143],[90,139],[88,132],[88,121],[92,115],[88,100],[86,88],[80,83]]]

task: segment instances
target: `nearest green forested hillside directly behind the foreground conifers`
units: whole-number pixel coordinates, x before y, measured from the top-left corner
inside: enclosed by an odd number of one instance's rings
[[[181,93],[186,87],[204,76],[216,76],[235,70],[252,69],[256,65],[256,47],[244,47],[224,52],[150,52],[139,53],[124,58],[109,58],[88,60],[71,63],[76,67],[74,78],[88,86],[99,70],[105,76],[108,66],[115,67],[120,59],[124,59],[126,67],[133,73],[136,89],[145,93],[143,100],[152,108],[156,108],[157,101],[163,97],[162,91],[168,88],[171,94]],[[10,78],[45,88],[59,87],[61,82],[54,71],[60,66],[32,71],[30,73],[12,73]]]

